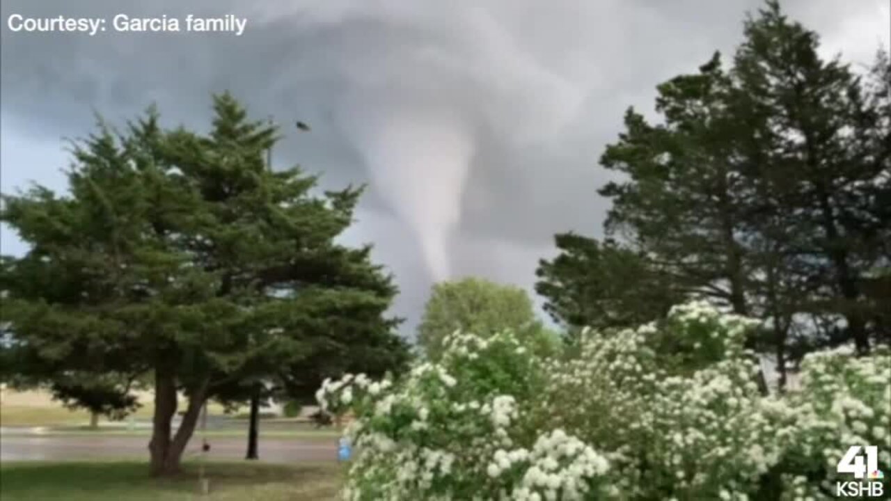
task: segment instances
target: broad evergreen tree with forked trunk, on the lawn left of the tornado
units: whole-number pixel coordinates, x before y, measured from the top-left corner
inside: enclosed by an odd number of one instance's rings
[[[315,177],[270,172],[274,127],[229,94],[214,110],[208,135],[162,130],[154,111],[126,134],[103,126],[75,148],[69,196],[37,187],[0,215],[30,244],[4,257],[4,350],[50,374],[151,371],[154,475],[179,470],[201,407],[258,361],[402,346],[391,277],[334,242],[362,190],[315,196]]]

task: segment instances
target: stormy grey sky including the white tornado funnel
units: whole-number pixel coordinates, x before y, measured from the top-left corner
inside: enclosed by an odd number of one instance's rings
[[[610,179],[598,166],[655,87],[730,55],[759,0],[3,0],[0,191],[65,189],[66,138],[157,103],[206,130],[231,91],[284,137],[274,166],[324,188],[367,183],[343,242],[374,244],[396,276],[411,336],[432,283],[466,275],[527,288],[553,234],[598,235]],[[789,0],[822,54],[869,64],[887,47],[889,0]],[[85,33],[13,32],[8,20],[102,18]],[[112,19],[224,18],[232,32],[116,32]],[[181,28],[184,28],[181,26]],[[295,120],[307,122],[299,132]],[[0,252],[27,246],[0,228]],[[541,300],[536,298],[540,305]]]

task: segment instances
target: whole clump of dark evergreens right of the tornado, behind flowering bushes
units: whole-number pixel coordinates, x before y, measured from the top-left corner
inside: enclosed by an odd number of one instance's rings
[[[731,68],[715,54],[658,86],[656,124],[627,111],[601,157],[623,176],[600,193],[612,201],[606,233],[650,272],[614,283],[606,254],[574,242],[539,270],[552,315],[609,324],[636,311],[630,301],[601,308],[617,295],[705,297],[764,319],[750,341],[772,352],[781,383],[788,359],[822,343],[850,340],[866,352],[887,339],[887,53],[858,77],[817,47],[813,31],[768,1],[745,23]]]

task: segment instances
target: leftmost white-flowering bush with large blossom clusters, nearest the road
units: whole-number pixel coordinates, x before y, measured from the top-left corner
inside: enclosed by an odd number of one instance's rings
[[[347,499],[583,499],[600,489],[603,456],[563,431],[537,433],[542,360],[512,333],[444,344],[439,363],[398,384],[350,374],[323,383],[321,405],[357,417]]]

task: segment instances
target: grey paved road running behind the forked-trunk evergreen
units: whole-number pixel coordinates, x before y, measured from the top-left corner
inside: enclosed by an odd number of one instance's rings
[[[243,437],[211,437],[208,458],[243,459]],[[148,437],[0,435],[0,461],[46,461],[148,456]],[[185,457],[200,455],[200,438],[193,437]],[[260,459],[273,463],[335,461],[336,440],[263,439]]]

